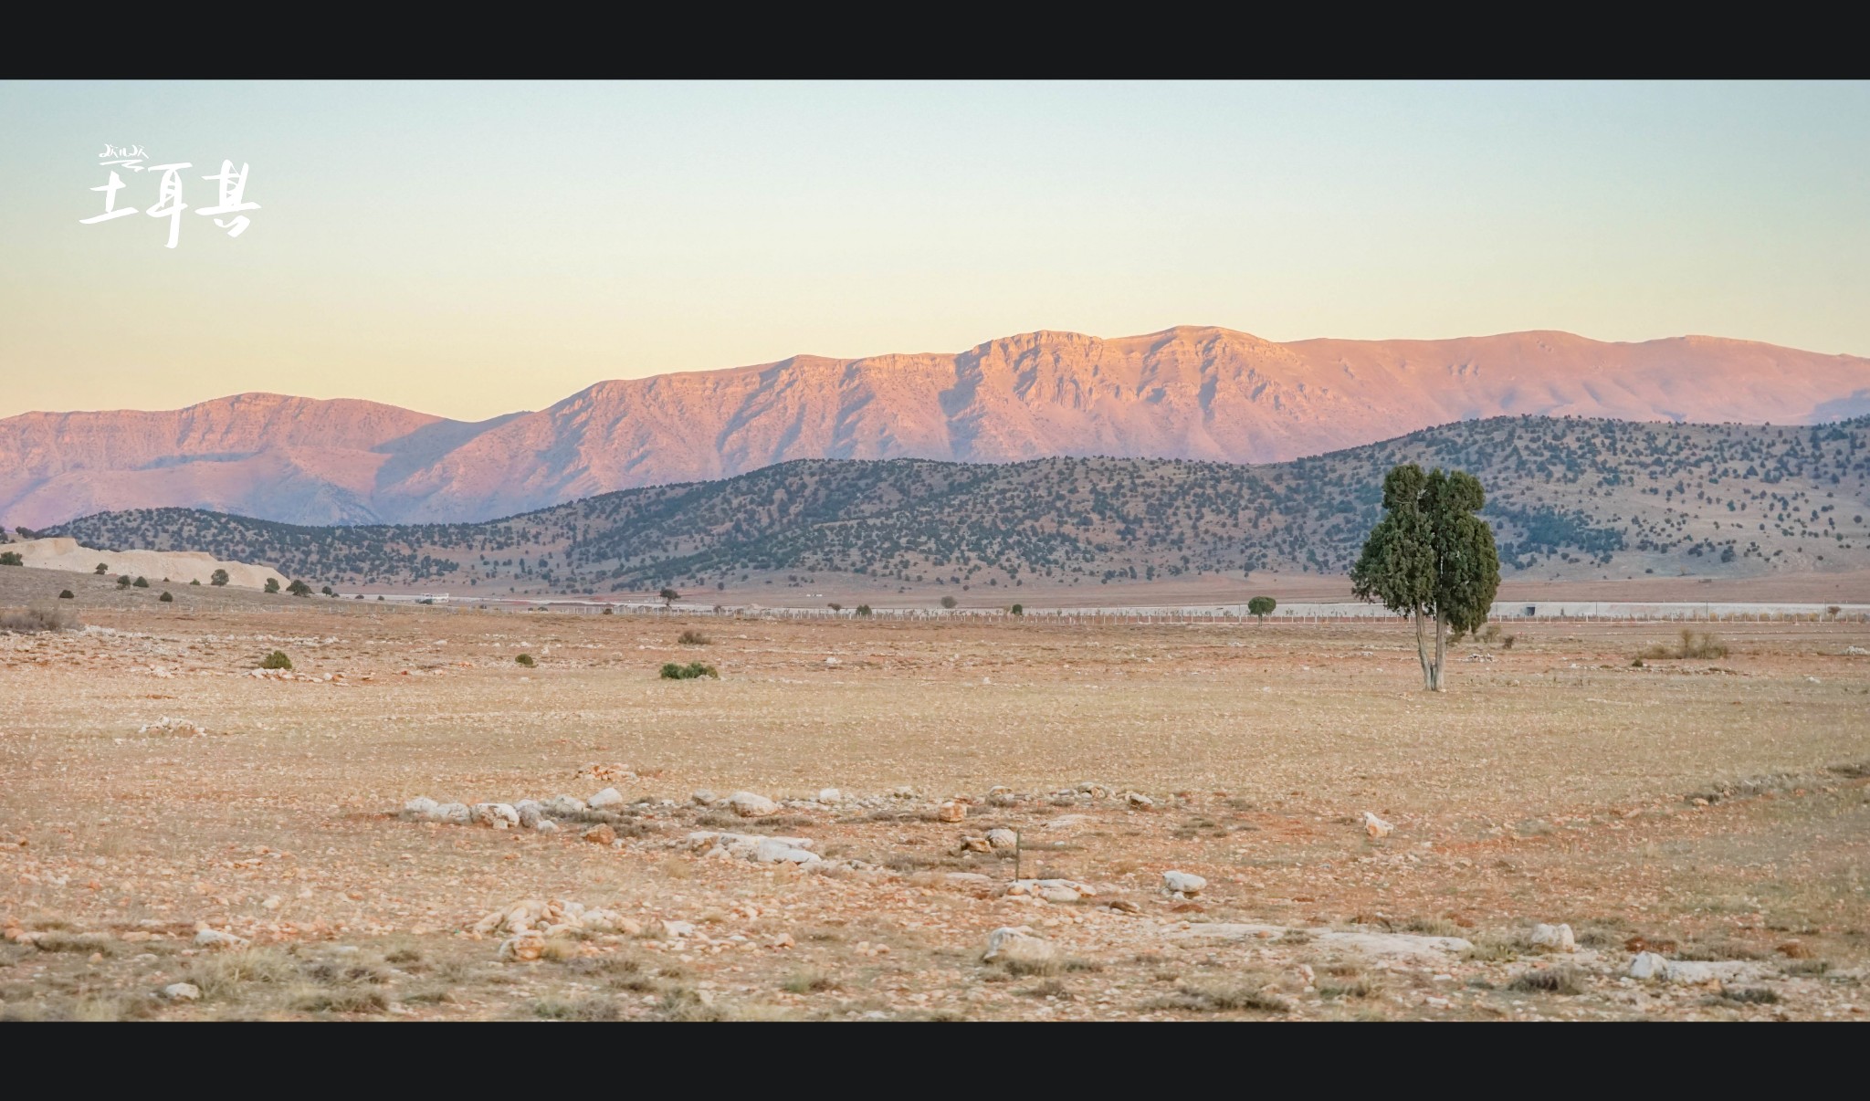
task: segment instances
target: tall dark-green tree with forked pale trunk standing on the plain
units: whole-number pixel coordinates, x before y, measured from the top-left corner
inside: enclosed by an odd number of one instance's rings
[[[1358,598],[1416,617],[1416,656],[1429,692],[1442,692],[1449,628],[1470,632],[1487,622],[1500,591],[1494,531],[1475,516],[1485,503],[1481,480],[1466,471],[1436,467],[1425,475],[1416,464],[1399,465],[1384,477],[1384,518],[1350,566]]]

